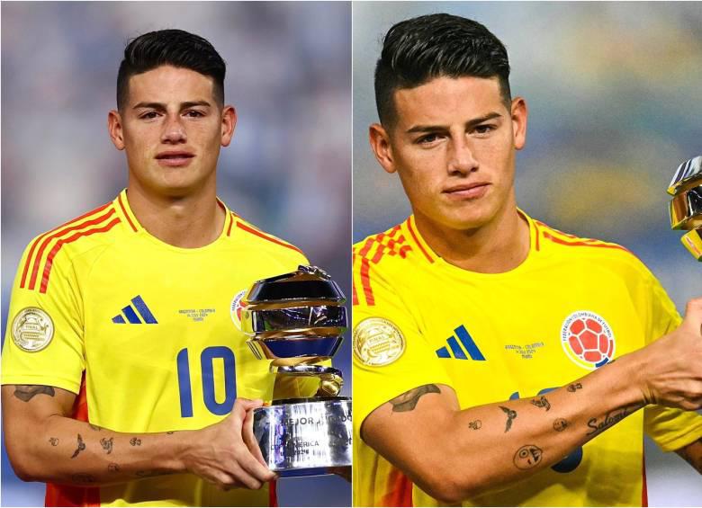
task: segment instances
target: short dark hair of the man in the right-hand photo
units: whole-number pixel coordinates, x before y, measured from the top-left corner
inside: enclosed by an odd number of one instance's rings
[[[498,77],[509,109],[509,58],[504,44],[481,23],[452,14],[428,14],[399,22],[385,35],[375,66],[375,105],[384,126],[397,111],[396,90],[439,77]]]

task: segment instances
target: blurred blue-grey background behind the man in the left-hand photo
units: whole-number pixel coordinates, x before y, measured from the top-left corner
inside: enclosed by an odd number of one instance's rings
[[[117,69],[131,38],[164,28],[202,35],[228,65],[238,125],[220,156],[220,198],[300,246],[350,295],[349,3],[3,3],[3,330],[24,246],[126,185],[106,130]],[[347,340],[336,359],[347,395],[349,359]],[[14,477],[4,445],[2,465],[3,505],[43,505],[44,486]],[[348,506],[350,486],[283,479],[279,501]]]

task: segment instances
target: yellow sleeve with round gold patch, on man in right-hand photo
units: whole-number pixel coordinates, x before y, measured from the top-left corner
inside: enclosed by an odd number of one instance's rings
[[[354,279],[365,278],[373,298],[355,291],[353,307],[354,422],[406,391],[428,384],[451,386],[401,289],[379,265],[354,260]],[[355,284],[356,287],[356,284]],[[360,286],[359,286],[360,287]]]

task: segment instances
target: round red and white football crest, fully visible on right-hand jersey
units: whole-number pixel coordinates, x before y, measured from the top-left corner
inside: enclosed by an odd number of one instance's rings
[[[568,358],[583,369],[595,370],[614,360],[614,333],[602,316],[589,310],[565,318],[561,344]]]

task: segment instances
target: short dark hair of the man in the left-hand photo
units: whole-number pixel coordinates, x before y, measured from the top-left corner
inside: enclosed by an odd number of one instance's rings
[[[227,66],[209,40],[183,30],[149,31],[130,41],[117,73],[117,107],[122,109],[131,76],[161,66],[183,67],[211,76],[214,98],[224,103],[224,75]]]

